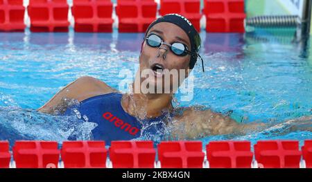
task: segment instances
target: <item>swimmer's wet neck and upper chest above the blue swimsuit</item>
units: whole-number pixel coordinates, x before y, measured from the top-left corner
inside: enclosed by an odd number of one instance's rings
[[[171,93],[132,93],[123,95],[121,106],[137,118],[155,118],[161,116],[164,109],[173,109],[171,101]]]

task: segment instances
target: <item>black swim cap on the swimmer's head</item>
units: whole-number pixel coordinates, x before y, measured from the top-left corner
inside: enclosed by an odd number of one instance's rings
[[[146,30],[146,34],[148,33],[148,30],[152,28],[155,24],[158,24],[160,22],[168,22],[171,24],[175,24],[182,28],[185,33],[187,33],[187,36],[189,36],[189,40],[191,42],[191,60],[189,62],[189,68],[193,69],[197,62],[197,58],[200,57],[198,54],[198,51],[200,50],[200,45],[201,45],[201,39],[200,35],[198,34],[197,30],[194,28],[194,26],[191,24],[191,22],[186,18],[183,17],[182,15],[172,13],[172,14],[167,14],[164,15],[164,17],[159,17],[155,21],[153,21],[150,26],[148,26]],[[202,57],[200,57],[202,60]],[[204,62],[202,60],[202,71],[204,71]]]

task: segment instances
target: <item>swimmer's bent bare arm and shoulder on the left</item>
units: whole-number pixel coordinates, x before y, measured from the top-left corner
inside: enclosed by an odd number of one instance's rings
[[[56,93],[46,104],[37,109],[43,113],[54,113],[56,110],[64,111],[67,109],[67,100],[85,100],[95,95],[112,93],[116,90],[109,87],[101,80],[84,76],[67,84],[62,90]]]

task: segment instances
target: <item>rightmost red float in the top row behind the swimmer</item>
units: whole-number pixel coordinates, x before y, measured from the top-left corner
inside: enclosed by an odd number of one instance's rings
[[[205,0],[206,30],[210,33],[244,33],[244,0]]]

